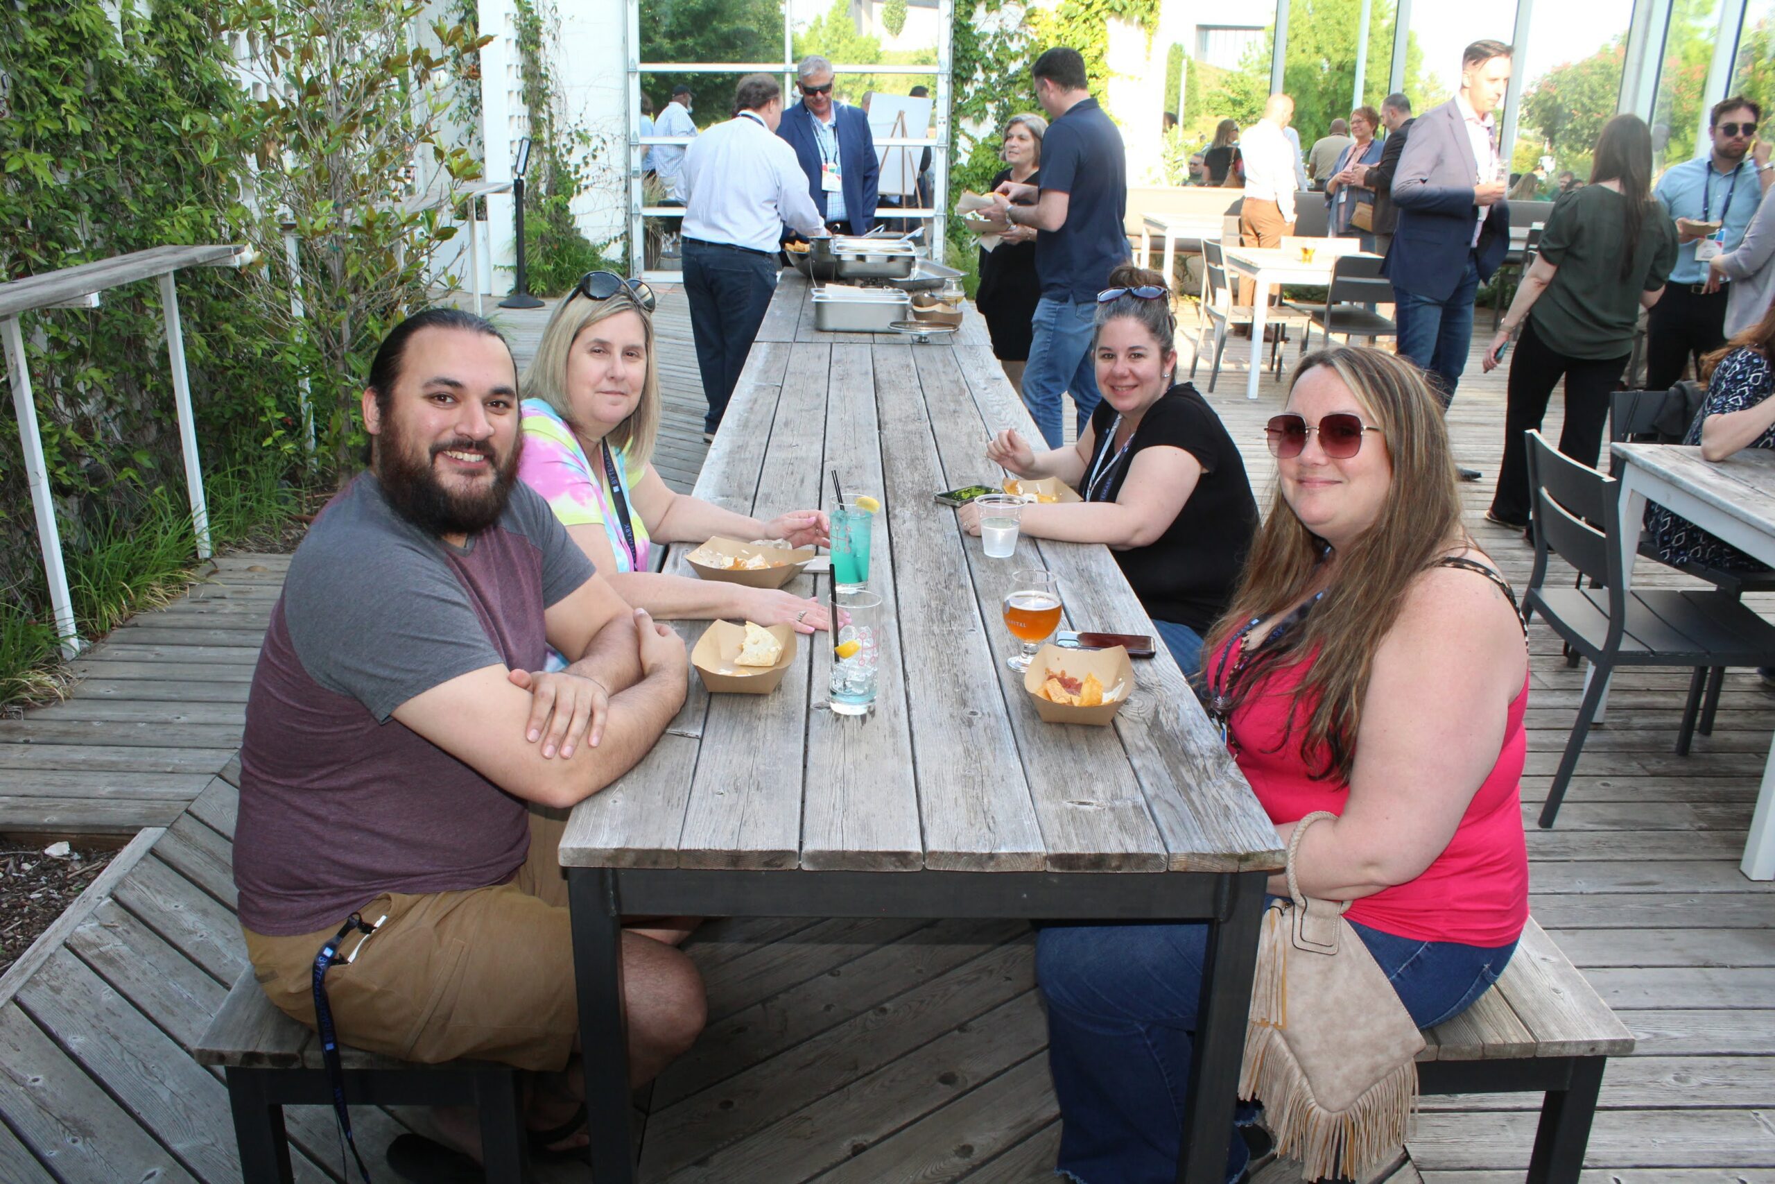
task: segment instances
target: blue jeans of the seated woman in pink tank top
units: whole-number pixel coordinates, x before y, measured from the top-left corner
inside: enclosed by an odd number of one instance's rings
[[[1516,950],[1393,937],[1353,925],[1411,1019],[1440,1024],[1482,996]],[[1045,925],[1035,973],[1060,1099],[1058,1172],[1083,1184],[1172,1184],[1189,1081],[1205,925]],[[1227,1179],[1248,1152],[1234,1134]]]

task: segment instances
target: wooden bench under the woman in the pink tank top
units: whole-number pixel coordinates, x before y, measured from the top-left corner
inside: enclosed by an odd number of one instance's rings
[[[1633,1033],[1534,918],[1498,983],[1424,1038],[1424,1093],[1542,1093],[1528,1182],[1576,1184],[1603,1065]]]

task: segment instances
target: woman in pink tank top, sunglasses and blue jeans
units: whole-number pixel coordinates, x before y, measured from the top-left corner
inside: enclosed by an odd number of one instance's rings
[[[1203,650],[1209,714],[1282,843],[1305,815],[1338,815],[1301,841],[1301,891],[1354,902],[1427,1028],[1496,982],[1528,918],[1523,623],[1461,525],[1422,371],[1312,353],[1267,435],[1276,493]],[[1200,925],[1042,928],[1063,1175],[1175,1179],[1203,950]],[[1239,1120],[1228,1180],[1267,1143],[1255,1106]]]

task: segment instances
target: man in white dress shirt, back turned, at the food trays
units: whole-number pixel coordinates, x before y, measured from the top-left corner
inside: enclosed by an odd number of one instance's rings
[[[733,110],[733,119],[698,137],[683,162],[683,293],[708,399],[705,440],[721,426],[776,293],[783,225],[808,238],[827,233],[795,149],[776,137],[777,80],[740,78]]]

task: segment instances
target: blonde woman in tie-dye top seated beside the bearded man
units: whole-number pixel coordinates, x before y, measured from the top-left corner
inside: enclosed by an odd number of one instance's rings
[[[595,298],[593,291],[611,291]],[[641,289],[646,293],[646,289]],[[650,456],[660,422],[651,293],[611,272],[591,272],[556,307],[524,371],[524,451],[518,476],[547,499],[573,541],[628,604],[660,620],[735,618],[760,625],[825,628],[816,598],[648,570],[653,543],[785,538],[827,541],[818,509],[769,522],[674,493]]]

